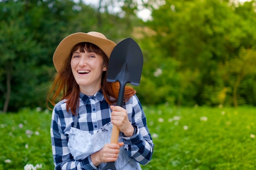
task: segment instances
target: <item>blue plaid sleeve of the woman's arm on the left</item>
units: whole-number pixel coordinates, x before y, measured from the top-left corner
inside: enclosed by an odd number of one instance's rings
[[[83,160],[73,159],[67,147],[68,137],[64,135],[64,126],[61,125],[61,119],[64,119],[61,118],[63,117],[62,115],[63,110],[54,107],[52,112],[51,140],[55,170],[98,170],[92,163],[90,156]]]

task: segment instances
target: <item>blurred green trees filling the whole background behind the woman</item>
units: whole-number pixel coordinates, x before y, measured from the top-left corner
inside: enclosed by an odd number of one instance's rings
[[[65,36],[89,31],[116,43],[138,42],[144,67],[135,88],[143,104],[256,106],[255,3],[103,0],[90,7],[73,0],[2,0],[0,110],[45,108],[54,50]],[[137,18],[143,8],[152,20]]]

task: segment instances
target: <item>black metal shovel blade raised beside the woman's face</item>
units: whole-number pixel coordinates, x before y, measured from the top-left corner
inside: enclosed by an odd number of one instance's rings
[[[108,82],[130,83],[139,86],[143,66],[143,55],[139,45],[126,38],[113,49],[108,64]]]

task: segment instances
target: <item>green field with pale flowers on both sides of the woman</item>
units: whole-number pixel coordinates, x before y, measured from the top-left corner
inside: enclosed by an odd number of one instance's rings
[[[256,169],[256,108],[146,107],[155,144],[143,170]],[[42,164],[52,170],[51,113],[21,110],[0,115],[0,170]]]

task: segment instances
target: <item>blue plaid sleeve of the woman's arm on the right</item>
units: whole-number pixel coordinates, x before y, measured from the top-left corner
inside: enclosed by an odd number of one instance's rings
[[[123,135],[124,148],[128,151],[130,158],[146,165],[153,155],[154,144],[148,131],[146,116],[136,95],[132,97],[131,120],[132,126],[135,128],[135,134],[131,137]]]

